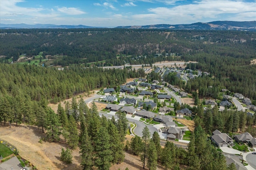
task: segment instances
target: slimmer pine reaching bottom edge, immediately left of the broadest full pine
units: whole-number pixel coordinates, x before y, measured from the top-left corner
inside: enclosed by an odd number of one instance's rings
[[[80,145],[80,157],[81,166],[83,170],[91,170],[94,165],[94,154],[90,137],[88,136],[87,129],[81,131],[81,145]]]

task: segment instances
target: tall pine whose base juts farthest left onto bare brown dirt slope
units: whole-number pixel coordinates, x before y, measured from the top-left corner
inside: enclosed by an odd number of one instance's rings
[[[48,126],[46,127],[46,135],[47,137],[52,141],[59,141],[60,140],[60,134],[61,134],[61,128],[58,116],[54,111],[48,107],[47,111],[47,123]]]

